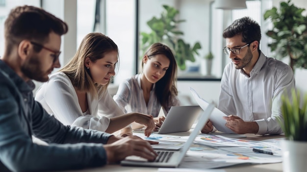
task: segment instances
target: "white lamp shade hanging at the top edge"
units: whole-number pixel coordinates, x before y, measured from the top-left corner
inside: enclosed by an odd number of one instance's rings
[[[215,8],[218,9],[245,9],[246,1],[245,0],[215,0]]]

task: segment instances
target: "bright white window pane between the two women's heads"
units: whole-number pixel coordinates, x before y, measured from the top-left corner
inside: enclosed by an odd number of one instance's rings
[[[135,0],[106,0],[105,34],[119,49],[119,71],[114,83],[135,74]]]

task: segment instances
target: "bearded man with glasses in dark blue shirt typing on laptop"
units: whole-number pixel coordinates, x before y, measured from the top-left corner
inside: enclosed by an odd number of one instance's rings
[[[34,101],[31,80],[47,81],[53,68],[60,67],[61,35],[67,31],[66,23],[33,6],[12,9],[5,21],[5,51],[0,58],[0,172],[72,170],[103,166],[129,155],[156,157],[147,141],[64,126]],[[50,145],[33,143],[32,135]]]

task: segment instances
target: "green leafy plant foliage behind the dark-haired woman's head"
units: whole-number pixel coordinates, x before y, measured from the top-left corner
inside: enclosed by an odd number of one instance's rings
[[[194,54],[198,54],[198,49],[201,49],[199,42],[194,46],[185,43],[179,36],[183,32],[177,29],[179,23],[185,20],[176,20],[179,10],[163,5],[164,10],[160,18],[153,17],[147,22],[147,25],[152,29],[150,33],[141,32],[141,55],[144,55],[146,50],[154,43],[160,42],[169,46],[175,52],[177,64],[181,70],[185,70],[185,60],[195,61]]]

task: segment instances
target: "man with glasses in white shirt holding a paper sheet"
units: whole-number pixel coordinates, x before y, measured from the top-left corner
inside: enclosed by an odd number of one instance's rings
[[[291,68],[259,49],[260,26],[243,17],[228,26],[223,37],[231,62],[225,67],[221,80],[218,108],[225,114],[226,126],[238,134],[280,134],[281,95],[290,98],[295,81]],[[222,119],[221,119],[222,120]],[[213,123],[214,125],[214,123]],[[213,130],[206,123],[203,133]]]

